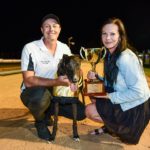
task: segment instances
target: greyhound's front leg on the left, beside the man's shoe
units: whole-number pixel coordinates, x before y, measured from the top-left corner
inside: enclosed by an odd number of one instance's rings
[[[56,132],[57,132],[57,123],[58,123],[58,113],[59,113],[59,102],[55,102],[55,112],[54,112],[54,124],[53,124],[53,132],[52,132],[52,139],[51,141],[55,140]]]

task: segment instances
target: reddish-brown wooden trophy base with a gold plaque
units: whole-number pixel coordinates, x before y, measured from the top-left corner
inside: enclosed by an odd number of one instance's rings
[[[105,96],[104,84],[102,81],[87,81],[85,79],[84,96]]]

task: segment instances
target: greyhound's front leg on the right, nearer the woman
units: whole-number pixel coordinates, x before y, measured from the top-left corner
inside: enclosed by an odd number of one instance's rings
[[[72,103],[73,108],[73,139],[75,141],[80,141],[77,129],[77,104]]]

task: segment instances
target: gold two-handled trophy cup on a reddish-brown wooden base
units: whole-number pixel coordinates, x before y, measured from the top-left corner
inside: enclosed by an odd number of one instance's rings
[[[84,48],[80,49],[80,56],[83,60],[86,60],[91,64],[92,71],[96,72],[96,64],[104,59],[106,55],[106,49],[102,48]],[[105,95],[104,84],[98,79],[87,80],[85,79],[85,96],[102,96]]]

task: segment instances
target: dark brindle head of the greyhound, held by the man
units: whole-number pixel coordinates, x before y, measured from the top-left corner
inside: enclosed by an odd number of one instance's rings
[[[76,83],[80,79],[81,59],[77,55],[63,55],[63,58],[58,64],[57,75],[66,75],[70,82]]]

